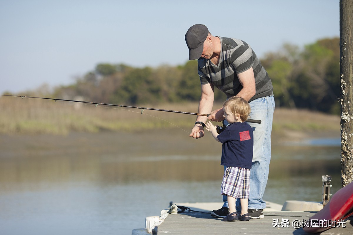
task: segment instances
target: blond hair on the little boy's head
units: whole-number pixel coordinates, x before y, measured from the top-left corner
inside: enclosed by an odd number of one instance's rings
[[[239,96],[232,96],[231,98],[227,99],[223,103],[223,107],[226,106],[234,116],[239,113],[241,120],[244,122],[248,119],[250,115],[251,109],[249,103]]]

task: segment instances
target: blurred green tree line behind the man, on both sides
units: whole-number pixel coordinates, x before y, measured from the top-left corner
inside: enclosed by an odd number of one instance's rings
[[[324,38],[300,49],[283,44],[261,58],[274,86],[277,107],[339,114],[339,38]],[[201,85],[197,61],[184,65],[136,68],[126,64],[97,64],[70,86],[55,89],[53,97],[124,105],[198,101]],[[215,100],[225,100],[215,89]]]

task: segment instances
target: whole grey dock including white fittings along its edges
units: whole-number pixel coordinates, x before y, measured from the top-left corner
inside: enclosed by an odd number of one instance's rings
[[[298,201],[298,203],[301,201]],[[170,202],[172,205],[172,202]],[[305,202],[308,208],[317,208],[315,202]],[[310,204],[310,205],[309,205]],[[282,211],[282,205],[267,202],[264,209],[264,218],[250,221],[223,222],[221,218],[210,215],[211,210],[220,208],[223,203],[176,203],[175,206],[184,206],[187,210],[177,213],[172,207],[162,210],[161,216],[146,217],[145,229],[134,229],[132,235],[173,234],[173,235],[211,235],[211,234],[309,234],[303,230],[303,222],[308,223],[309,218],[316,211]],[[295,204],[297,205],[297,203]],[[300,204],[298,204],[300,205]],[[319,223],[319,222],[318,222]],[[318,226],[318,225],[317,225]],[[334,224],[321,234],[353,235],[353,217]]]

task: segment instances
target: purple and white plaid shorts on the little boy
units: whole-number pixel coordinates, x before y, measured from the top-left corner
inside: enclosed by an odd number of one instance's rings
[[[221,186],[221,194],[234,198],[249,198],[250,169],[227,167]]]

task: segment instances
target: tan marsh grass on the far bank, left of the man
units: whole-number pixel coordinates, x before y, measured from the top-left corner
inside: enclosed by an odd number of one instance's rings
[[[144,107],[196,112],[197,104],[165,104]],[[182,128],[189,131],[196,116],[162,111],[40,100],[0,98],[0,133],[59,134],[70,131],[138,131]]]

